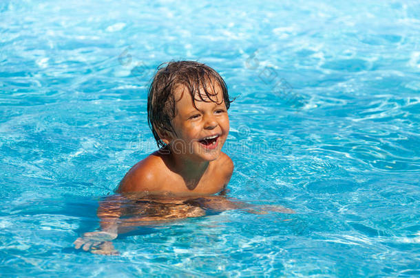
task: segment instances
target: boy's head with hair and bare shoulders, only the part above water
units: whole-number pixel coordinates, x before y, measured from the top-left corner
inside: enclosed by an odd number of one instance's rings
[[[233,162],[222,152],[230,105],[220,75],[199,62],[169,62],[149,89],[149,126],[160,150],[125,175],[118,193],[216,194],[231,178]]]

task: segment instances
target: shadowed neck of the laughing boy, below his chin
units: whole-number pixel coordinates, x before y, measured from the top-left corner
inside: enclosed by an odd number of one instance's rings
[[[193,190],[197,187],[204,172],[209,167],[209,161],[193,161],[189,157],[171,154],[174,168],[185,181],[188,189]]]

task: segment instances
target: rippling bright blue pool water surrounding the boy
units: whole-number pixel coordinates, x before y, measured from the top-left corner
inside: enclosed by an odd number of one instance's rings
[[[1,1],[1,277],[420,275],[419,1]],[[167,60],[237,97],[225,211],[75,251],[156,149]]]

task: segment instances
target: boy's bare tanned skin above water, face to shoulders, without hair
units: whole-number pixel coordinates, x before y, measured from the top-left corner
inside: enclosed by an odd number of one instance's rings
[[[232,160],[221,151],[229,134],[229,116],[220,86],[214,88],[211,100],[200,91],[206,101],[195,102],[184,87],[175,91],[174,131],[156,129],[167,147],[134,165],[121,181],[118,193],[193,196],[217,194],[224,189],[233,172]]]

